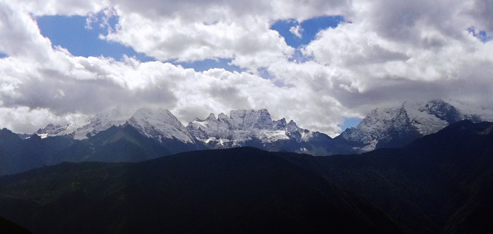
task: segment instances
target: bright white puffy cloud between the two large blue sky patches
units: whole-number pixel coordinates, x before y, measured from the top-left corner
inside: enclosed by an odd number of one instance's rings
[[[277,31],[269,29],[265,17],[190,23],[180,18],[153,21],[130,14],[120,16],[118,26],[105,39],[132,46],[161,61],[233,58],[233,64],[254,70],[293,52]]]

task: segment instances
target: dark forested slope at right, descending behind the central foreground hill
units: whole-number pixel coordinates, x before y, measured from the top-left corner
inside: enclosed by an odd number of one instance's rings
[[[463,120],[401,149],[285,158],[363,195],[416,233],[491,233],[492,129]]]

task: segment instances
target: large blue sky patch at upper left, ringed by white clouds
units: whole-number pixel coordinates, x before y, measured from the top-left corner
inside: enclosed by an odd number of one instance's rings
[[[116,24],[115,20],[117,20],[116,17],[109,18],[109,25]],[[41,34],[49,38],[53,46],[60,45],[67,48],[74,56],[99,57],[103,55],[120,60],[126,54],[129,57],[135,56],[142,62],[154,61],[153,58],[137,53],[131,47],[99,39],[100,34],[106,35],[108,32],[108,26],[100,26],[101,19],[99,18],[93,18],[92,28],[86,28],[87,17],[85,16],[41,16],[36,21]]]

